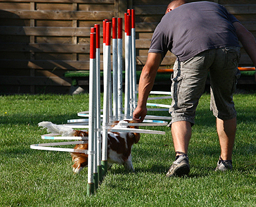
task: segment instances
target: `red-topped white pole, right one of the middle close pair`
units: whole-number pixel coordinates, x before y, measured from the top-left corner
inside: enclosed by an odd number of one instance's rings
[[[118,18],[118,120],[122,119],[122,18]]]

